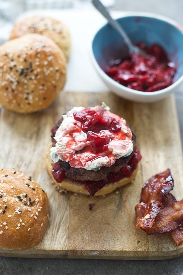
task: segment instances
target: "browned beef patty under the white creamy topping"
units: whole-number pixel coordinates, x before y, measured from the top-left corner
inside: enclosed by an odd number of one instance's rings
[[[52,127],[52,146],[54,147],[56,144],[56,141],[54,139],[57,129],[59,128],[60,124],[62,123],[63,119],[60,119],[58,123],[54,127]],[[136,136],[132,132],[132,140],[134,143],[134,148],[136,145]],[[73,179],[73,180],[80,180],[80,181],[95,181],[98,182],[100,180],[106,179],[107,175],[109,173],[117,173],[120,171],[122,167],[124,167],[125,164],[128,163],[128,161],[133,156],[133,152],[127,156],[127,157],[121,157],[118,160],[115,161],[115,163],[111,167],[101,167],[98,171],[93,170],[86,170],[84,168],[73,168],[70,166],[69,162],[59,160],[58,164],[60,169],[65,171],[65,175],[67,178]]]

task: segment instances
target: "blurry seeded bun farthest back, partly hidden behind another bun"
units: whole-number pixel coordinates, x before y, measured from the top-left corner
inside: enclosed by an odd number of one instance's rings
[[[28,33],[38,33],[52,39],[63,50],[68,60],[70,54],[70,33],[62,22],[44,16],[28,17],[14,25],[9,39],[15,39]]]

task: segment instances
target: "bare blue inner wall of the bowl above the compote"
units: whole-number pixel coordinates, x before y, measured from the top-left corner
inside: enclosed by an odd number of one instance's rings
[[[183,33],[166,21],[146,16],[127,16],[118,19],[134,44],[145,42],[160,45],[177,68],[174,81],[183,75]],[[103,26],[95,35],[92,50],[99,66],[104,70],[110,60],[127,52],[123,39],[109,25]]]

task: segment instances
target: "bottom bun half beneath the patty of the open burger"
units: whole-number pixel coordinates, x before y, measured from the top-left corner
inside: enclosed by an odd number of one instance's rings
[[[69,191],[69,192],[73,192],[73,193],[79,193],[79,194],[83,194],[83,195],[90,195],[88,193],[88,190],[85,190],[83,189],[83,185],[77,183],[77,182],[74,182],[74,181],[71,181],[69,178],[65,178],[61,183],[60,182],[56,182],[56,180],[53,178],[53,175],[52,175],[52,165],[53,165],[53,161],[50,157],[50,148],[51,148],[52,145],[50,145],[47,149],[47,152],[46,152],[46,166],[47,166],[47,169],[48,169],[48,172],[53,180],[53,183],[56,185],[56,188],[62,193],[64,193],[64,191]],[[131,175],[130,178],[123,178],[121,179],[120,181],[118,182],[114,182],[114,183],[109,183],[109,184],[106,184],[104,187],[102,187],[102,189],[100,189],[99,191],[97,191],[95,193],[94,196],[103,196],[103,195],[107,195],[111,192],[113,192],[115,189],[123,186],[123,185],[126,185],[127,183],[131,182],[134,178],[135,178],[135,175],[137,174],[137,171],[138,171],[138,166],[137,168],[133,171],[133,174]]]

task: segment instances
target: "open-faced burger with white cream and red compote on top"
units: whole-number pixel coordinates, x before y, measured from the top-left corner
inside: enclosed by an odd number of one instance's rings
[[[135,178],[142,158],[136,136],[104,102],[72,108],[51,132],[46,164],[60,192],[101,196]]]

